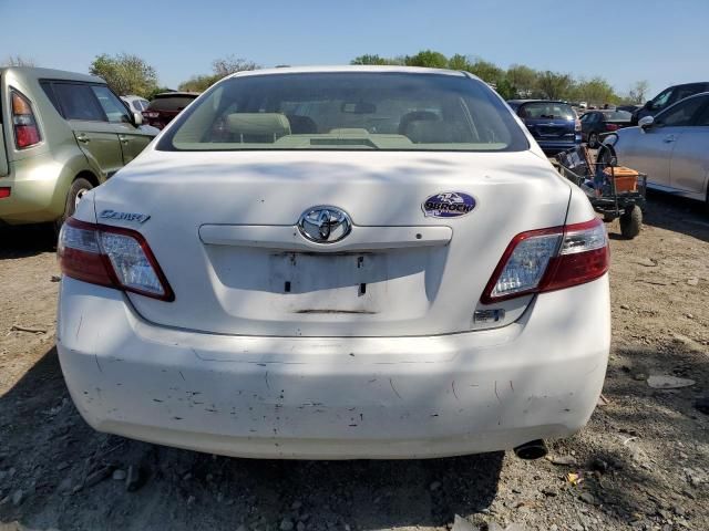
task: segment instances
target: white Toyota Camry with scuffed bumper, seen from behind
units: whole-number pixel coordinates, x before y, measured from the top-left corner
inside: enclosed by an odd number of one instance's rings
[[[534,458],[600,393],[607,246],[467,73],[244,72],[64,225],[58,350],[102,431],[246,457]]]

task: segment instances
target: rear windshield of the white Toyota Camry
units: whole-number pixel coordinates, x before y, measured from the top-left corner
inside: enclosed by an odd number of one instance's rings
[[[397,72],[248,75],[182,114],[163,150],[523,150],[507,106],[465,76]]]

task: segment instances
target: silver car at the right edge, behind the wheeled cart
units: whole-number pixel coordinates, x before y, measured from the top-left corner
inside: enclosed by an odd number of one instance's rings
[[[709,204],[709,92],[645,116],[606,143],[621,165],[648,175],[649,188]]]

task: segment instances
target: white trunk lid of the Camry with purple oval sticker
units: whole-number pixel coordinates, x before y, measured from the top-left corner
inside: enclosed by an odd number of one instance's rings
[[[171,283],[173,302],[129,294],[154,323],[242,335],[433,335],[471,329],[512,238],[563,225],[568,197],[528,152],[153,152],[97,189],[95,208],[100,221],[140,230]],[[458,207],[458,217],[424,205],[461,198],[474,208]],[[322,205],[351,218],[351,232],[332,244],[297,227]],[[150,219],[101,219],[105,210]]]

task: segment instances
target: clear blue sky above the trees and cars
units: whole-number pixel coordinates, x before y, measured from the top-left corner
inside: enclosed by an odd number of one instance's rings
[[[100,53],[136,53],[175,87],[235,54],[264,66],[343,64],[363,53],[479,55],[654,95],[709,80],[709,0],[0,0],[0,60],[85,72]]]

